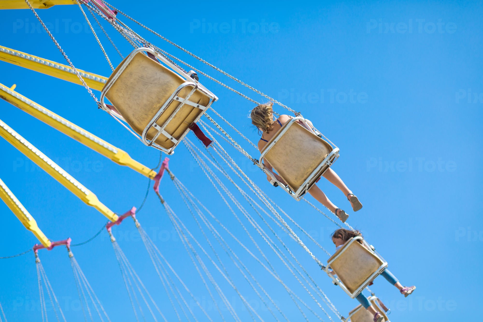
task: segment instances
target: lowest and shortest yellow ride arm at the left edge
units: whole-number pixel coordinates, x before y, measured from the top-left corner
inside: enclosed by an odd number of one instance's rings
[[[47,238],[42,230],[40,230],[39,226],[37,226],[37,222],[30,213],[25,209],[25,207],[18,201],[15,195],[10,191],[7,187],[5,182],[0,179],[0,199],[7,205],[10,210],[14,213],[14,215],[20,220],[20,222],[30,230],[37,239],[42,243],[45,248],[49,248],[51,242],[49,238]]]

